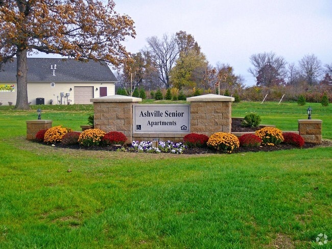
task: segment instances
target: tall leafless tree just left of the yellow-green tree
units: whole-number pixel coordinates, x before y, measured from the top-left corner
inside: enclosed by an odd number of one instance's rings
[[[178,57],[179,50],[175,35],[164,34],[161,39],[156,36],[147,38],[148,52],[159,70],[159,79],[166,88],[170,87],[170,72]]]

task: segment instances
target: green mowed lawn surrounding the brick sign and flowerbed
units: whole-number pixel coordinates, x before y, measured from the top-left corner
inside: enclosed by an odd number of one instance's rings
[[[234,104],[232,116],[255,111],[288,130],[307,117],[307,107],[274,113],[274,105]],[[316,248],[319,233],[332,238],[332,147],[204,156],[65,150],[25,139],[35,110],[1,108],[0,248]],[[42,118],[77,130],[93,112],[57,108],[42,106]],[[330,131],[330,107],[319,115]]]

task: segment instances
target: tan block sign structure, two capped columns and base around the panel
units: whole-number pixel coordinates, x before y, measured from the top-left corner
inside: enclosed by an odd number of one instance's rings
[[[233,97],[207,94],[187,98],[190,107],[190,131],[210,136],[216,132],[231,132],[231,102]],[[188,133],[133,133],[133,105],[141,98],[114,95],[91,99],[94,107],[94,128],[104,132],[124,133],[128,141],[182,141]]]

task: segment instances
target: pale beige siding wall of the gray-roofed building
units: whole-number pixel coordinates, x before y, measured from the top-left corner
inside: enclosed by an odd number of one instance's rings
[[[1,83],[3,84],[3,83]],[[13,83],[10,83],[13,84]],[[0,92],[0,102],[3,105],[8,106],[8,102],[12,102],[13,105],[16,104],[16,83],[15,92]],[[31,102],[31,105],[36,105],[36,98],[44,98],[45,105],[50,105],[51,99],[53,100],[53,105],[60,104],[61,101],[60,93],[64,92],[69,93],[68,102],[69,104],[76,104],[74,95],[75,95],[75,87],[77,86],[89,86],[93,88],[93,96],[99,97],[99,87],[104,86],[107,87],[107,94],[114,95],[115,94],[115,84],[114,83],[57,83],[55,82],[55,86],[51,87],[51,83],[28,83],[28,101]],[[70,90],[72,88],[72,90]],[[96,90],[98,88],[98,90]],[[67,97],[62,98],[62,104],[67,103]],[[86,103],[92,104],[92,103]]]

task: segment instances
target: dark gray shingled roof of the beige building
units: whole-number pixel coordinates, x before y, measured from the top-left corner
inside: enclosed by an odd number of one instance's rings
[[[115,82],[111,69],[104,62],[74,59],[28,58],[28,82]],[[54,65],[56,69],[54,71]],[[16,58],[2,65],[0,82],[16,82]]]

